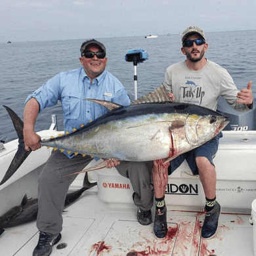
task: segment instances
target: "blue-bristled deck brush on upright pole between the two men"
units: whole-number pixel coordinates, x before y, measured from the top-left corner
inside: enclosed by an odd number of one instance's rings
[[[127,51],[125,54],[125,60],[133,62],[134,66],[134,83],[135,83],[135,100],[137,100],[137,64],[142,63],[148,59],[148,53],[144,49],[133,49]]]

